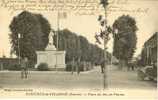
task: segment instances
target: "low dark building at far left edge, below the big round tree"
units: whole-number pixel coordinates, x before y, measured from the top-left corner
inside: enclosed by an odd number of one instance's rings
[[[10,66],[16,65],[19,63],[17,58],[0,58],[0,70],[7,70]]]

